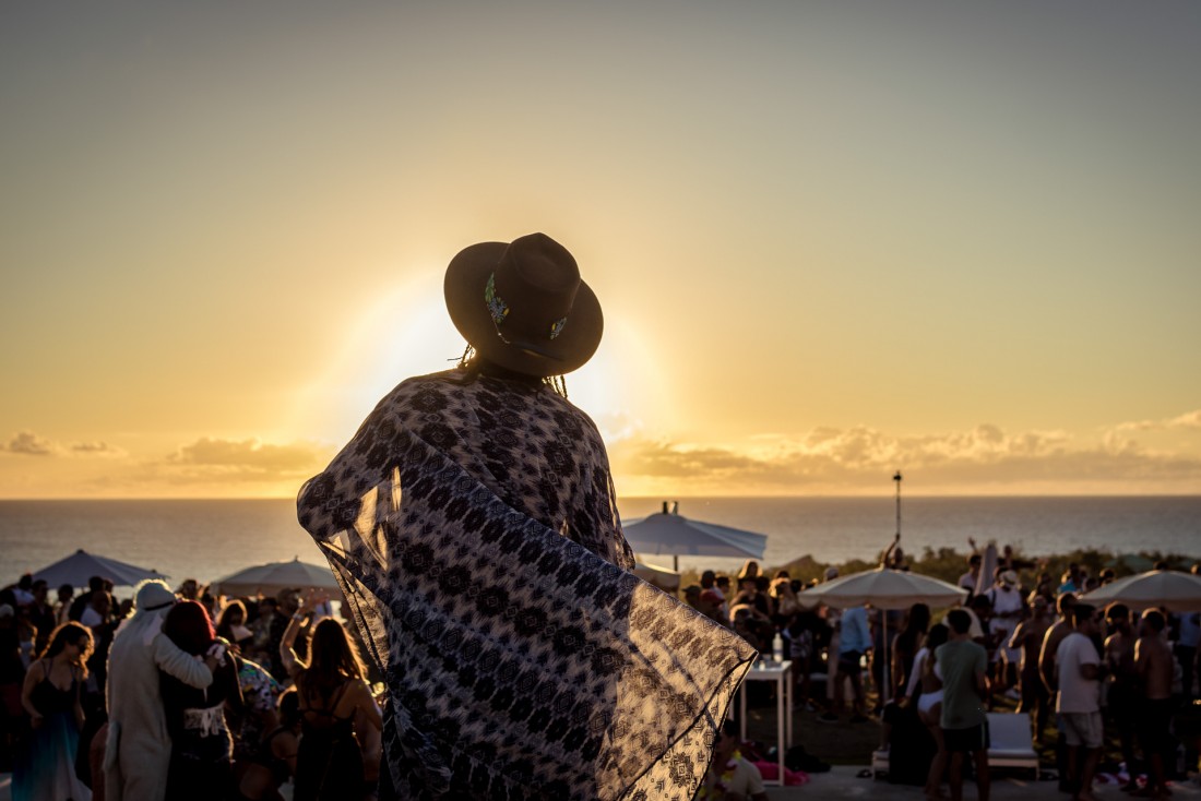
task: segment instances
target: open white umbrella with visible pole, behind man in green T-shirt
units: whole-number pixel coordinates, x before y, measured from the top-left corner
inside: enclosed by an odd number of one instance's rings
[[[800,597],[805,598],[806,603],[811,603],[815,597],[827,606],[836,609],[872,604],[880,610],[880,624],[883,626],[885,609],[908,609],[913,604],[945,606],[963,603],[967,598],[967,590],[930,575],[878,567],[874,570],[853,573],[820,584],[812,590],[806,590]],[[891,675],[889,665],[889,638],[885,635],[885,676]],[[882,697],[885,703],[889,699],[889,680],[884,681]]]

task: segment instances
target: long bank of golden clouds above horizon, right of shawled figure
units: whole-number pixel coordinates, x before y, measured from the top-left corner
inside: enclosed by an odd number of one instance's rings
[[[1112,432],[1111,432],[1112,434]],[[1121,437],[1077,443],[1063,431],[967,431],[892,436],[871,426],[819,428],[753,438],[746,449],[635,438],[610,448],[633,494],[859,491],[902,470],[919,491],[1176,491],[1201,486],[1201,458],[1157,453]],[[629,491],[629,490],[627,490]]]

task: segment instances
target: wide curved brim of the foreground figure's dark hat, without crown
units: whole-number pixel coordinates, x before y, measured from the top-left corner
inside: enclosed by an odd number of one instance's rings
[[[465,247],[450,259],[443,281],[450,322],[477,353],[507,370],[543,378],[584,366],[596,353],[604,333],[600,303],[584,281],[575,292],[567,324],[555,339],[506,342],[497,334],[484,300],[484,287],[507,247],[508,243],[479,243]]]

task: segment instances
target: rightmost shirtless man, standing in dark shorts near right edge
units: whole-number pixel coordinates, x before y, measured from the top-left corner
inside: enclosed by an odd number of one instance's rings
[[[1143,695],[1139,740],[1148,765],[1147,791],[1153,799],[1171,795],[1164,772],[1164,751],[1171,747],[1173,664],[1172,650],[1164,640],[1165,622],[1163,612],[1145,611],[1135,644],[1135,666]]]

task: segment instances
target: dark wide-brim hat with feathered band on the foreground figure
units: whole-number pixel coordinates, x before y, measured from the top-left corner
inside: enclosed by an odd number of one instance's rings
[[[450,259],[443,291],[467,343],[514,372],[568,373],[600,345],[600,304],[575,258],[546,234],[465,247]]]

